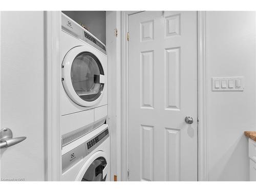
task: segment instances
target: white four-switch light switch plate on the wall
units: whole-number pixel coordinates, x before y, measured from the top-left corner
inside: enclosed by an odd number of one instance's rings
[[[212,91],[244,91],[244,77],[212,77]]]

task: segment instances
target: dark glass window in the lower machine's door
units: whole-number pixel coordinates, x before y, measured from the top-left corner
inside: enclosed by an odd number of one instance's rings
[[[86,173],[83,175],[81,181],[105,181],[106,175],[103,176],[103,169],[106,167],[106,160],[104,157],[95,159],[88,167]]]

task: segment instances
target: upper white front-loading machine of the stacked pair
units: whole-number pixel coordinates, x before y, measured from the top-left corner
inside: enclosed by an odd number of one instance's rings
[[[61,15],[60,130],[62,146],[90,133],[107,116],[106,47]]]

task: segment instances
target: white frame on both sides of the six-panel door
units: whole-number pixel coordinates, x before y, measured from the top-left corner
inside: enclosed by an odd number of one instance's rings
[[[121,180],[128,181],[129,171],[129,60],[127,32],[129,15],[140,11],[121,12]],[[208,181],[206,134],[206,62],[205,62],[205,11],[197,12],[198,25],[198,181]]]

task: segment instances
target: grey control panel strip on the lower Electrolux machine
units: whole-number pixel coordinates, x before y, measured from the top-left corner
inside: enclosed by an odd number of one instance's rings
[[[97,146],[109,137],[109,129],[106,128],[92,139],[80,144],[73,150],[62,155],[62,174],[78,161],[89,155]]]

